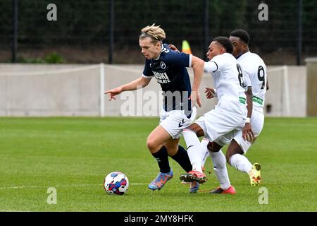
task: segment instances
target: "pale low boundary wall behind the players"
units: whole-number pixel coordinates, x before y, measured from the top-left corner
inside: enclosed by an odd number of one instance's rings
[[[0,116],[120,116],[127,99],[122,96],[108,102],[104,91],[138,78],[142,71],[142,65],[0,64]],[[192,80],[192,69],[188,71]],[[271,105],[271,112],[265,107],[266,116],[306,116],[305,66],[268,66],[268,83],[266,106]],[[206,100],[204,86],[213,87],[209,74],[201,82],[199,115],[216,104],[216,100]],[[134,115],[157,116],[160,90],[153,78],[142,92],[134,91]],[[140,102],[149,91],[157,94],[157,100]],[[157,114],[140,111],[150,100]]]

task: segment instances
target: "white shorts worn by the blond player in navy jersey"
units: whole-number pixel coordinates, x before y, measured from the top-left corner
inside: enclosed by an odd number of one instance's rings
[[[190,126],[196,119],[196,114],[197,107],[192,108],[190,119],[187,118],[185,112],[182,110],[166,112],[162,109],[160,114],[160,125],[170,133],[170,136],[173,139],[178,139],[182,135],[182,130],[187,126]]]

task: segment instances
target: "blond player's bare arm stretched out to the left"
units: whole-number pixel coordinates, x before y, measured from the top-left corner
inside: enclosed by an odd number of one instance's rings
[[[109,95],[109,101],[116,100],[116,95],[122,93],[123,91],[128,90],[137,90],[139,88],[143,88],[144,86],[149,85],[151,78],[144,78],[143,76],[135,79],[134,81],[127,83],[125,85],[120,85],[117,88],[113,88],[112,90],[108,90],[105,94]]]

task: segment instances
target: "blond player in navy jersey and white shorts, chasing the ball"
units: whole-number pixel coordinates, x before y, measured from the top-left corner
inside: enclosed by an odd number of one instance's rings
[[[137,90],[149,84],[155,77],[163,90],[163,109],[159,126],[149,134],[147,148],[156,158],[160,172],[149,184],[149,189],[160,190],[173,177],[173,170],[168,163],[168,155],[177,161],[186,172],[192,170],[187,151],[178,145],[182,129],[196,118],[196,107],[201,107],[198,92],[204,73],[204,61],[192,54],[172,51],[168,44],[163,44],[166,34],[162,28],[151,25],[141,30],[139,46],[146,58],[142,76],[135,81],[106,91],[109,100],[127,90]],[[187,67],[194,71],[191,88]]]

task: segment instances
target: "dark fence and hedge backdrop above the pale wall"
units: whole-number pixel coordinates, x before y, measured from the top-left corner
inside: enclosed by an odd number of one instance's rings
[[[46,18],[51,3],[57,21]],[[260,21],[262,3],[268,20]],[[142,64],[138,36],[152,23],[166,42],[188,40],[201,58],[213,37],[236,28],[249,32],[251,51],[266,64],[304,64],[317,51],[316,0],[1,0],[0,8],[0,62]]]

